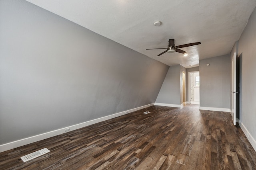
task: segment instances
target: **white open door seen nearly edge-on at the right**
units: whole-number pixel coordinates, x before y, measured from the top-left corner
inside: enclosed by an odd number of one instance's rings
[[[232,114],[232,121],[233,124],[236,125],[236,53],[234,53],[231,61],[231,83],[232,83],[232,108],[231,108],[231,114]]]

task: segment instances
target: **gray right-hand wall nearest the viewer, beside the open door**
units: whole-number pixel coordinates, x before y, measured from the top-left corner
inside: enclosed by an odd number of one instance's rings
[[[239,39],[238,56],[242,54],[242,111],[240,121],[256,140],[256,9]]]

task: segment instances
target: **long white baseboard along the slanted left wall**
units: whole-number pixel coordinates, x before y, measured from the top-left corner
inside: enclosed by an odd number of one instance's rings
[[[89,125],[92,125],[92,124],[95,124],[95,123],[99,123],[101,121],[105,121],[105,120],[108,120],[108,119],[112,119],[114,117],[125,115],[125,114],[131,113],[133,111],[144,109],[146,107],[150,107],[150,106],[153,106],[153,105],[154,105],[154,103],[147,104],[145,106],[136,107],[134,109],[129,109],[129,110],[122,111],[122,112],[119,112],[119,113],[115,113],[115,114],[112,114],[112,115],[100,117],[98,119],[86,121],[86,122],[79,123],[79,124],[76,124],[76,125],[64,127],[64,128],[61,128],[61,129],[57,129],[57,130],[54,130],[54,131],[42,133],[42,134],[35,135],[35,136],[32,136],[32,137],[24,138],[24,139],[20,139],[18,141],[13,141],[13,142],[10,142],[10,143],[6,143],[6,144],[3,144],[3,145],[0,145],[0,152],[4,152],[6,150],[21,147],[23,145],[28,145],[30,143],[34,143],[34,142],[37,142],[37,141],[40,141],[40,140],[43,140],[43,139],[47,139],[49,137],[54,137],[56,135],[60,135],[62,133],[66,133],[65,129],[68,129],[68,128],[70,128],[69,131],[73,131],[73,130],[76,130],[76,129],[79,129],[79,128],[82,128],[82,127],[86,127],[86,126],[89,126]]]

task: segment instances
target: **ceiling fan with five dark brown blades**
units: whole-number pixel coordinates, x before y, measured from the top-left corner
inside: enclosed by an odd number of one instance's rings
[[[166,52],[168,53],[174,53],[175,51],[178,52],[178,53],[182,53],[182,54],[185,54],[186,51],[183,51],[179,48],[183,48],[183,47],[189,47],[189,46],[193,46],[193,45],[199,45],[201,44],[201,42],[197,42],[197,43],[189,43],[189,44],[184,44],[184,45],[178,45],[178,46],[175,46],[174,44],[174,39],[169,39],[169,44],[167,46],[167,49],[166,48],[160,48],[160,49],[166,49],[166,51],[160,53],[159,55],[157,56],[160,56]],[[154,49],[146,49],[146,50],[154,50]]]

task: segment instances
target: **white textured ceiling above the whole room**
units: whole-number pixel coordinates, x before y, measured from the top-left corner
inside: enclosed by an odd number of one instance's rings
[[[27,0],[104,37],[167,65],[186,68],[199,59],[229,54],[256,0]],[[161,21],[156,27],[154,21]],[[158,54],[175,45],[201,41],[181,53]]]

